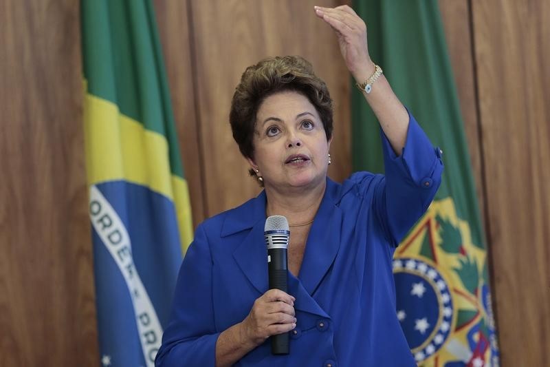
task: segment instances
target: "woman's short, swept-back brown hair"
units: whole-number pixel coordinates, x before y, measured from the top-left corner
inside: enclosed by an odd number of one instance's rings
[[[327,84],[314,74],[311,63],[300,56],[268,57],[246,68],[231,101],[233,138],[246,158],[254,158],[252,140],[261,103],[268,96],[285,91],[307,97],[321,118],[327,141],[332,137],[332,99]]]

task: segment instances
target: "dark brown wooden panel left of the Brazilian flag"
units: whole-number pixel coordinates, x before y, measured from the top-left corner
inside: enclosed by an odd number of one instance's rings
[[[1,1],[0,40],[0,364],[97,366],[78,1]]]

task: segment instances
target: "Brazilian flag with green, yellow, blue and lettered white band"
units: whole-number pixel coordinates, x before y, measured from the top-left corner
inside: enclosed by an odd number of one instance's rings
[[[192,236],[155,14],[148,0],[81,12],[100,360],[153,366]]]

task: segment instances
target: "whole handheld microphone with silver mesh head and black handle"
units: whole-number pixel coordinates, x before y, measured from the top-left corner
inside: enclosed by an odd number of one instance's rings
[[[267,271],[270,279],[270,289],[281,289],[288,292],[288,260],[287,248],[290,237],[287,218],[269,216],[263,229],[267,245]],[[283,333],[271,336],[271,353],[287,355],[289,353],[289,334]]]

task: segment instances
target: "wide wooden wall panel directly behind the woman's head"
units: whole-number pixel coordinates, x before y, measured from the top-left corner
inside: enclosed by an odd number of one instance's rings
[[[325,79],[335,104],[329,176],[351,172],[349,72],[336,36],[314,14],[314,5],[338,1],[192,1],[193,50],[197,65],[197,119],[206,190],[206,216],[240,205],[259,193],[248,176],[229,125],[230,101],[245,67],[266,56],[300,54]]]

